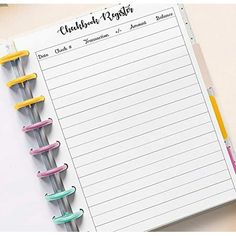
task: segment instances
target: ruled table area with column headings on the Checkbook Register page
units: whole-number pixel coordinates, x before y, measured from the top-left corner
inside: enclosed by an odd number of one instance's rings
[[[150,230],[235,198],[178,10],[146,8],[35,52],[98,231]]]

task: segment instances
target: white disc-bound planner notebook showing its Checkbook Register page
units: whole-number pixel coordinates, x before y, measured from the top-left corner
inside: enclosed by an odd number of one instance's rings
[[[19,158],[43,163],[37,176],[52,184],[45,198],[59,207],[54,223],[150,231],[236,199],[233,150],[193,47],[182,6],[148,4],[115,5],[1,44],[1,91],[4,81],[4,99],[19,110],[1,122],[24,125],[34,158]]]

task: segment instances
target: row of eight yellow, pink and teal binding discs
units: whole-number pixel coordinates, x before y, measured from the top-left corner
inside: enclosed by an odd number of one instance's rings
[[[5,63],[8,63],[8,62],[16,61],[16,60],[20,59],[21,57],[25,57],[25,56],[28,56],[28,55],[29,55],[29,51],[27,51],[27,50],[22,50],[22,51],[10,53],[10,54],[0,58],[0,64],[5,64]],[[24,86],[25,86],[24,83],[25,82],[31,81],[31,80],[37,78],[37,74],[35,74],[35,73],[28,74],[28,75],[24,75],[23,74],[22,76],[19,73],[19,75],[20,75],[20,77],[17,77],[15,79],[12,79],[12,80],[8,81],[6,85],[9,88],[11,88],[11,87],[13,87],[15,85],[21,85],[22,88],[25,89],[24,88]],[[19,75],[17,75],[17,76],[19,76]],[[38,96],[38,97],[31,97],[30,96],[29,99],[26,99],[25,101],[17,103],[15,105],[15,109],[19,110],[19,109],[24,108],[24,107],[31,108],[32,105],[34,105],[36,103],[39,103],[39,102],[43,102],[44,100],[45,100],[44,96]],[[30,111],[32,111],[32,110],[30,110]],[[39,120],[38,122],[36,122],[34,124],[30,124],[30,125],[24,126],[22,128],[22,131],[23,132],[34,131],[34,130],[40,129],[42,127],[45,127],[47,125],[51,125],[52,122],[53,121],[52,121],[51,118],[49,118],[47,120],[44,120],[44,121],[40,121]],[[37,149],[31,149],[30,154],[31,155],[39,155],[39,154],[42,154],[44,152],[48,152],[48,151],[51,151],[51,150],[53,150],[55,148],[58,148],[59,146],[60,146],[60,142],[57,141],[55,143],[48,144],[46,146],[39,147]],[[49,170],[46,170],[46,171],[43,171],[43,172],[39,171],[37,173],[37,176],[39,178],[44,178],[44,177],[52,176],[52,175],[55,175],[57,173],[60,173],[60,172],[62,172],[64,170],[66,170],[67,168],[68,168],[67,164],[64,164],[64,165],[58,166],[58,167],[56,166],[56,167],[54,167],[52,169],[49,169]],[[62,188],[64,189],[63,185],[62,185]],[[56,192],[56,191],[59,191],[59,192]],[[45,198],[48,201],[55,201],[55,200],[62,200],[62,201],[64,201],[64,200],[67,200],[67,199],[63,199],[63,198],[65,198],[65,197],[75,193],[76,188],[74,186],[72,186],[68,190],[60,191],[60,190],[57,189],[56,191],[53,194],[46,194]],[[62,211],[65,212],[64,214],[62,214],[62,216],[58,216],[58,217],[54,216],[53,217],[53,222],[55,224],[64,224],[64,223],[71,222],[73,220],[76,220],[76,219],[80,218],[84,214],[84,210],[83,209],[80,209],[76,213],[69,213],[69,212],[67,212],[68,210],[66,208],[62,208]]]

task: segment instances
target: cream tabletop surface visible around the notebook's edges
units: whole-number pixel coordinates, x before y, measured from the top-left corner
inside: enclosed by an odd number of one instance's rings
[[[0,8],[0,39],[53,24],[104,5],[10,5]],[[236,4],[185,5],[236,148]],[[236,203],[172,224],[164,231],[236,231]]]

